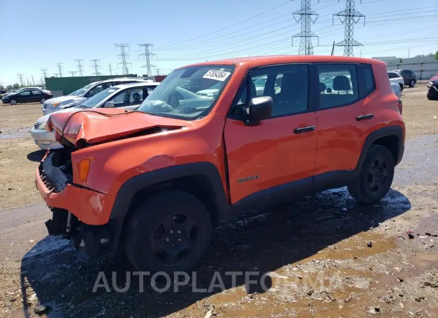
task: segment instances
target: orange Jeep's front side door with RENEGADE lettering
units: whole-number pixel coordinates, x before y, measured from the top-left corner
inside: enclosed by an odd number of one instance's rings
[[[224,138],[231,203],[245,198],[269,201],[260,202],[262,207],[286,199],[285,195],[292,197],[288,190],[293,184],[299,184],[301,190],[311,189],[317,118],[308,98],[307,64],[258,68],[249,77],[230,109]],[[266,79],[263,86],[262,78]],[[246,83],[251,86],[249,93]],[[256,126],[247,126],[248,100],[256,96],[273,98],[272,115]]]

